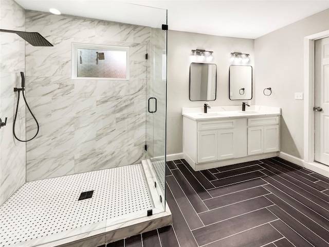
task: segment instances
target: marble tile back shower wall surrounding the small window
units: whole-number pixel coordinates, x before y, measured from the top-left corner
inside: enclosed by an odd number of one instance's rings
[[[27,100],[40,134],[27,143],[27,181],[140,163],[145,157],[150,27],[26,11]],[[130,47],[130,80],[72,80],[71,43]],[[36,131],[27,115],[27,137]]]

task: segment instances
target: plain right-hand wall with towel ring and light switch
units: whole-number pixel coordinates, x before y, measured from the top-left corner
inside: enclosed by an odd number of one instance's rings
[[[255,104],[282,108],[281,151],[303,158],[304,37],[329,29],[329,9],[255,40]],[[271,96],[263,90],[272,88]]]

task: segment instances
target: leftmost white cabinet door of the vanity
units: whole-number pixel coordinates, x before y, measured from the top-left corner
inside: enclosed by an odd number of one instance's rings
[[[218,157],[218,131],[199,131],[197,133],[197,162],[216,161]]]

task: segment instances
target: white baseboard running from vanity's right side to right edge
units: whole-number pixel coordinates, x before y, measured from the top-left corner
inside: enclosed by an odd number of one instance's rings
[[[329,166],[326,166],[326,165],[323,165],[323,164],[317,163],[317,162],[305,162],[301,158],[295,157],[293,155],[290,155],[290,154],[287,154],[284,152],[279,152],[279,157],[283,158],[286,161],[289,161],[291,163],[304,167],[308,170],[317,172],[317,173],[329,178]]]

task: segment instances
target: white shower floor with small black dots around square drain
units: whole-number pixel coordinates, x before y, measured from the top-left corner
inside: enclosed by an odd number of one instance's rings
[[[90,190],[92,198],[78,201]],[[140,164],[29,182],[0,207],[0,246],[151,208]]]

